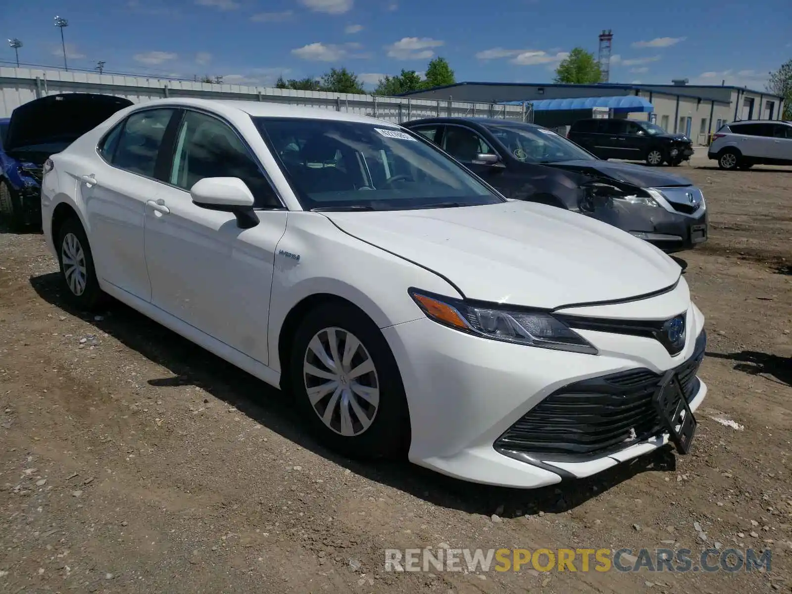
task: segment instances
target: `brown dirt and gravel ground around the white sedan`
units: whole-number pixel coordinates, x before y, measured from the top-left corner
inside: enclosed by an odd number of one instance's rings
[[[677,254],[710,337],[693,451],[536,491],[341,459],[287,394],[128,307],[68,309],[40,234],[0,234],[0,592],[792,591],[792,169],[674,172],[703,186],[711,221],[706,246]],[[384,571],[386,548],[423,546],[772,558]]]

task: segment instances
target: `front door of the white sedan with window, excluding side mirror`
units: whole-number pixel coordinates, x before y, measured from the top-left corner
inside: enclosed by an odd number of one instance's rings
[[[287,211],[253,152],[226,121],[186,110],[173,137],[162,192],[146,208],[146,262],[155,306],[261,364],[275,249]],[[192,203],[204,177],[238,177],[253,193],[259,223]]]

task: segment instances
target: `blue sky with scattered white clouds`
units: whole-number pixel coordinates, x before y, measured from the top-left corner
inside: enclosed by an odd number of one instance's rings
[[[792,3],[590,0],[22,0],[5,3],[0,36],[20,61],[161,77],[222,75],[267,85],[353,70],[425,70],[442,55],[458,81],[550,82],[565,52],[597,51],[612,29],[611,82],[692,82],[762,89],[792,58]],[[13,62],[3,44],[0,60]]]

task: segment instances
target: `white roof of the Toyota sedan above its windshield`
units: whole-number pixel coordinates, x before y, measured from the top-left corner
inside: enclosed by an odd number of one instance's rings
[[[143,109],[158,105],[175,105],[183,107],[197,107],[209,109],[221,114],[229,112],[244,112],[252,117],[295,117],[315,120],[336,120],[343,122],[360,122],[361,124],[380,124],[396,127],[397,124],[379,120],[370,116],[360,116],[356,113],[337,112],[335,109],[322,109],[318,107],[305,107],[303,105],[287,105],[272,101],[233,101],[227,99],[192,99],[190,97],[173,97],[168,99],[155,99],[139,104],[136,107]]]

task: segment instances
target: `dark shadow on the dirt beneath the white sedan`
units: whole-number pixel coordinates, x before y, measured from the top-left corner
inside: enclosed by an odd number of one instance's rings
[[[149,379],[150,386],[200,386],[253,421],[356,474],[400,489],[435,505],[505,518],[539,512],[564,512],[647,470],[676,470],[676,457],[663,447],[594,477],[542,489],[508,489],[446,477],[405,462],[358,462],[318,444],[300,421],[289,394],[276,390],[192,342],[151,321],[131,307],[111,300],[100,315],[74,310],[60,295],[59,274],[32,277],[40,297],[108,333],[148,360],[166,367],[172,377]]]

